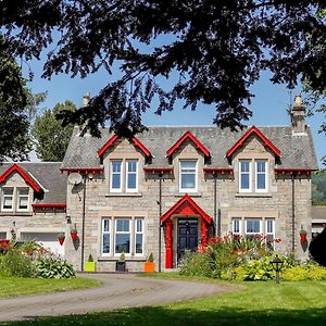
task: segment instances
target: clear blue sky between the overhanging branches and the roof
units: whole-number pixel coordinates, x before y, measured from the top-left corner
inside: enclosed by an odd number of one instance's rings
[[[53,108],[58,102],[64,102],[65,100],[71,100],[77,106],[82,106],[84,95],[87,92],[90,96],[96,95],[102,87],[112,82],[112,77],[104,71],[84,79],[79,77],[71,78],[68,75],[61,74],[53,76],[51,80],[47,80],[40,77],[42,61],[34,61],[29,63],[29,67],[35,74],[33,82],[28,83],[32,92],[48,92],[47,100],[40,108]],[[23,66],[23,71],[26,73],[26,67],[24,68]],[[113,76],[117,74],[117,71],[113,72]],[[168,80],[164,83],[168,86]],[[252,86],[251,92],[255,97],[248,108],[253,112],[253,115],[248,122],[244,122],[246,125],[284,126],[290,124],[287,108],[290,99],[293,101],[294,95],[300,92],[299,87],[290,93],[286,86],[272,84],[268,72],[262,72],[260,80]],[[142,121],[145,125],[212,125],[213,117],[215,116],[214,105],[199,104],[197,111],[191,111],[189,109],[184,110],[180,101],[176,102],[175,109],[172,112],[164,112],[161,116],[155,115],[153,111],[150,110],[143,114]],[[321,113],[315,113],[313,116],[306,118],[313,131],[315,151],[321,168],[323,167],[321,160],[326,154],[326,135],[318,133],[318,130],[324,120],[325,114]]]

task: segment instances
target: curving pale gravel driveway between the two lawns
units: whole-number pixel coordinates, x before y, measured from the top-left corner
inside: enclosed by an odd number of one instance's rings
[[[1,299],[0,322],[155,305],[235,289],[231,285],[145,278],[130,274],[93,274],[83,277],[99,279],[103,285],[68,292]]]

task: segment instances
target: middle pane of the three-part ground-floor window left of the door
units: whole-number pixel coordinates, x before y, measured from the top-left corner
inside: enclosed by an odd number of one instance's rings
[[[115,253],[130,253],[130,218],[115,218]]]

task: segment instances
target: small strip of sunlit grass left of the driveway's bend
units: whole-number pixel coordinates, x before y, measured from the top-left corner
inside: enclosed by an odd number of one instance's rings
[[[96,279],[82,277],[63,279],[0,277],[0,298],[68,291],[98,285],[100,283]]]

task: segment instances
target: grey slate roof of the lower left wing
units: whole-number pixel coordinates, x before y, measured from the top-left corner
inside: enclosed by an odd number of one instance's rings
[[[60,172],[61,162],[41,163],[2,163],[0,175],[12,164],[20,165],[45,190],[45,197],[37,199],[35,203],[53,204],[66,202],[67,175]]]

